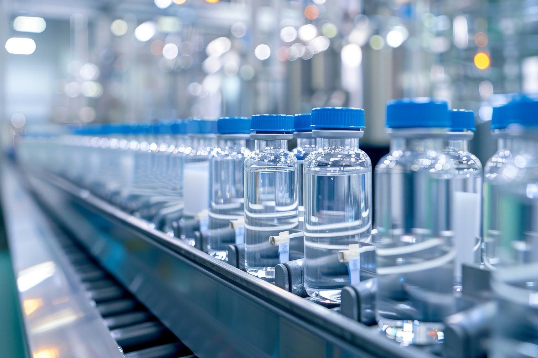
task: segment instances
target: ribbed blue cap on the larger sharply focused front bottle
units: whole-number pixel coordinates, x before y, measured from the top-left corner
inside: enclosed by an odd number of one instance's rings
[[[314,129],[360,130],[364,128],[364,109],[321,107],[312,109]]]

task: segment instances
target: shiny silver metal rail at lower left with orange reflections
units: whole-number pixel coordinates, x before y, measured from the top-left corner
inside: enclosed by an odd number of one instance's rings
[[[30,353],[123,357],[41,209],[12,170],[4,169],[2,179],[2,207]]]

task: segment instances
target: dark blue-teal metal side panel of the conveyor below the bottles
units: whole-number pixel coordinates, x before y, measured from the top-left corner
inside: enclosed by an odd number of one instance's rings
[[[88,191],[32,177],[44,204],[196,355],[427,357],[153,230]]]

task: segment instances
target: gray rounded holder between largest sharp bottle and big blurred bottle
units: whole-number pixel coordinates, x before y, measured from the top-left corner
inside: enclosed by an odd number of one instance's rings
[[[365,325],[376,324],[377,279],[367,279],[342,289],[342,315]]]

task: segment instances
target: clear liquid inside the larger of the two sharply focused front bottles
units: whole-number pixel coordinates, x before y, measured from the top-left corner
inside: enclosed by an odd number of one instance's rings
[[[311,196],[305,201],[305,287],[311,297],[339,303],[350,282],[338,252],[351,244],[365,248],[359,256],[361,280],[373,277],[375,255],[367,191],[372,173],[335,174],[305,172],[305,195]]]

